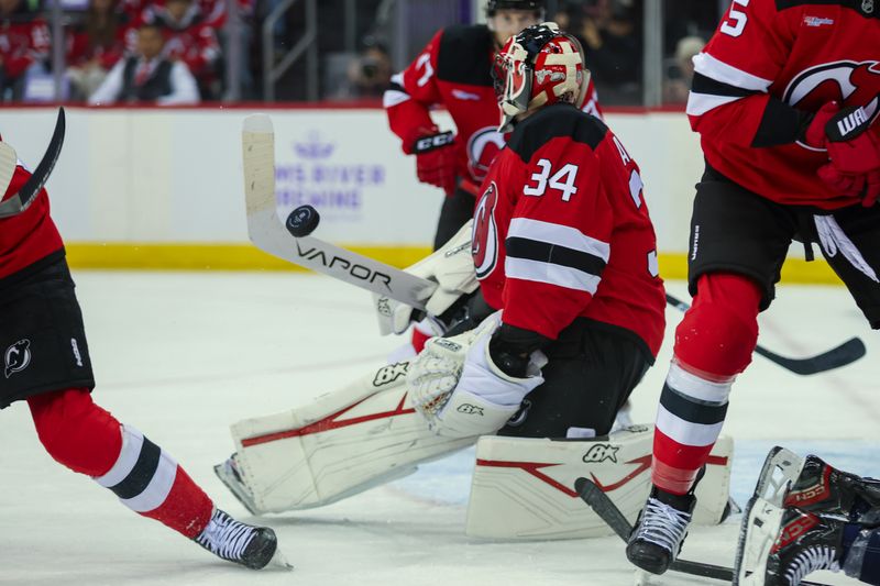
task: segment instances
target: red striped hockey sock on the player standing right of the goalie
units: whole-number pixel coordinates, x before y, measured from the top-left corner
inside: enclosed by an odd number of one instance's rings
[[[651,480],[684,495],[708,460],[727,414],[730,387],[758,342],[761,290],[747,277],[704,275],[675,330],[653,439]]]

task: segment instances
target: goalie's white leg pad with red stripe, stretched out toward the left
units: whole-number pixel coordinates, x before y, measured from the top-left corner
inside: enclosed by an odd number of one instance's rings
[[[409,401],[408,366],[384,366],[305,407],[233,424],[255,512],[328,505],[473,444],[429,431]]]

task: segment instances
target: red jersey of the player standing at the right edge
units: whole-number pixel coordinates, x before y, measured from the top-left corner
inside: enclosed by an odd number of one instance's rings
[[[816,177],[827,153],[796,141],[803,112],[832,100],[866,107],[880,132],[880,5],[875,4],[734,0],[694,57],[688,114],[708,164],[780,203],[828,210],[856,203]]]

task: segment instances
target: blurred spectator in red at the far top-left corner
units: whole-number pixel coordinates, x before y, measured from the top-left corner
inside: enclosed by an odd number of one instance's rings
[[[45,21],[22,0],[0,0],[0,101],[20,99],[29,70],[45,69],[50,41]]]

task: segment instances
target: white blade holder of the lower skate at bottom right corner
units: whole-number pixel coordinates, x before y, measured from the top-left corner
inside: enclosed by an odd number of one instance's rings
[[[783,512],[784,509],[757,495],[749,500],[739,529],[734,584],[763,586],[767,560],[779,537]]]

